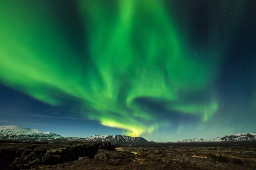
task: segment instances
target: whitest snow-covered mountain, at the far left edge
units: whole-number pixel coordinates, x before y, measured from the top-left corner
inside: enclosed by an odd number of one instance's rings
[[[63,138],[52,132],[43,132],[36,129],[23,128],[20,126],[6,125],[0,126],[0,140],[5,141],[22,141],[22,142],[36,142],[44,139],[58,139]]]

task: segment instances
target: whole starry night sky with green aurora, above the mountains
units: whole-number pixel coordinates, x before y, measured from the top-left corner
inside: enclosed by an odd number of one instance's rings
[[[0,0],[0,125],[156,142],[256,132],[256,0]]]

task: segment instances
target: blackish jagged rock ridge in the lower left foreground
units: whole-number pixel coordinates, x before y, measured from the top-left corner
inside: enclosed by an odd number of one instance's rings
[[[0,169],[28,169],[44,164],[54,165],[78,160],[79,157],[93,158],[98,149],[114,150],[111,143],[51,143],[24,148],[26,144],[0,149]],[[4,146],[1,146],[4,147]]]

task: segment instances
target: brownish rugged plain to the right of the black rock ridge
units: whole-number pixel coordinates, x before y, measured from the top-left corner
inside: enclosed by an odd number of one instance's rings
[[[215,156],[216,160],[205,155],[208,152],[221,152]],[[224,153],[228,155],[224,155]],[[116,151],[99,149],[93,159],[79,158],[76,161],[57,165],[37,165],[32,170],[255,170],[253,158],[256,158],[255,146],[237,146],[229,143],[212,143],[205,147],[186,144],[160,144],[151,146],[120,146]],[[239,155],[234,157],[232,155]],[[221,160],[227,158],[226,162]],[[242,157],[244,159],[242,159]],[[245,158],[246,157],[246,158]],[[236,162],[229,162],[228,158],[235,158]],[[240,159],[240,161],[238,160]],[[251,161],[245,165],[245,161]],[[243,163],[243,165],[242,165]]]

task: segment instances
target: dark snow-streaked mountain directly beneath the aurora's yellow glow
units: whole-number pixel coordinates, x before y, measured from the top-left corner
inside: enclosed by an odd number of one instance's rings
[[[84,138],[86,142],[111,142],[114,144],[149,144],[142,137],[131,137],[126,135],[92,135]]]

